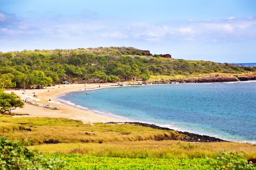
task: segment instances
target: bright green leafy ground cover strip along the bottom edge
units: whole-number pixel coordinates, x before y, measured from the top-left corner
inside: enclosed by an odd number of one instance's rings
[[[208,160],[197,159],[155,159],[155,158],[119,158],[83,155],[47,155],[59,157],[67,162],[70,169],[209,169]]]

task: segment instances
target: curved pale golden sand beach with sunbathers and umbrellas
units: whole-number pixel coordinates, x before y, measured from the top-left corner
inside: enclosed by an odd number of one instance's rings
[[[33,101],[38,104],[49,104],[47,101],[49,99],[51,101],[59,102],[55,97],[60,96],[62,94],[71,92],[71,91],[79,91],[89,89],[89,88],[98,88],[99,85],[101,87],[110,87],[113,85],[117,85],[117,83],[91,83],[91,84],[71,84],[71,85],[56,85],[47,87],[44,89],[35,89],[35,90],[27,90],[26,93],[22,94],[23,90],[7,90],[5,92],[11,93],[11,91],[15,92],[17,95],[21,96],[21,98],[25,95],[30,95],[33,97],[33,92],[37,95],[37,98],[41,101],[34,101],[32,99],[29,99],[30,101]],[[65,86],[65,87],[64,87]],[[59,88],[60,87],[60,88]],[[48,92],[48,90],[50,92]],[[55,105],[54,105],[55,106]],[[77,107],[72,107],[67,104],[59,104],[56,105],[60,110],[53,110],[50,108],[45,107],[38,107],[31,104],[25,103],[24,108],[17,108],[12,111],[12,113],[16,114],[29,114],[29,115],[23,115],[23,117],[52,117],[52,118],[67,118],[67,119],[75,119],[75,120],[81,120],[84,123],[94,123],[94,122],[125,122],[124,119],[119,119],[114,116],[107,116],[107,115],[100,115],[97,113],[94,113],[92,111],[83,110]],[[21,117],[21,116],[13,116],[13,117]]]

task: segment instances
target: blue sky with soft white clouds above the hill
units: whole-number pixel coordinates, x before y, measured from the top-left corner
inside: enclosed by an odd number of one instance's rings
[[[255,0],[0,0],[0,51],[134,47],[256,63]]]

